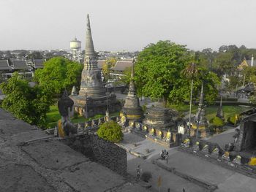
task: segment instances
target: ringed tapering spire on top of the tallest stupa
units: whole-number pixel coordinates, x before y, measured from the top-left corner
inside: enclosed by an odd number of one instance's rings
[[[89,14],[87,14],[87,24],[86,24],[86,58],[95,58],[95,51],[94,51],[94,42],[91,36],[91,25],[90,25],[90,18]]]

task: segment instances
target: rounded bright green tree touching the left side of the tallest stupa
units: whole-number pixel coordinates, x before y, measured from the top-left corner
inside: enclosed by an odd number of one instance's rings
[[[37,69],[34,80],[45,91],[56,95],[65,88],[71,91],[73,85],[79,86],[82,69],[83,65],[66,58],[51,58],[44,63],[43,69]]]

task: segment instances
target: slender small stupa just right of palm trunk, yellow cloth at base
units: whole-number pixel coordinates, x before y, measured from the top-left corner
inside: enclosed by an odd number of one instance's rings
[[[201,87],[200,100],[198,110],[195,115],[195,122],[192,123],[190,136],[198,138],[206,138],[208,135],[208,123],[206,119],[205,105],[203,104],[203,83]]]

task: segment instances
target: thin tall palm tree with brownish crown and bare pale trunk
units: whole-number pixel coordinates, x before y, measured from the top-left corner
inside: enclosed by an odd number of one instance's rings
[[[191,125],[191,109],[192,109],[192,93],[193,93],[193,80],[195,80],[195,78],[198,75],[198,68],[197,68],[197,64],[194,64],[194,62],[192,62],[192,64],[189,64],[184,70],[183,70],[183,74],[186,75],[189,80],[191,80],[191,90],[190,90],[190,105],[189,105],[189,134],[190,134],[190,125]]]

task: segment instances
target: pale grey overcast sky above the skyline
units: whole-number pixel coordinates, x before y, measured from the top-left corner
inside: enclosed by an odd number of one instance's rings
[[[142,50],[171,40],[202,50],[256,47],[255,0],[0,0],[0,50],[84,47],[86,14],[96,50]]]

